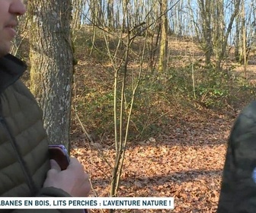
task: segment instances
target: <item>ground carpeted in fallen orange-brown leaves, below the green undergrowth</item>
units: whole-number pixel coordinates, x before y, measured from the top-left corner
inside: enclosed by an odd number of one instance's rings
[[[186,49],[186,45],[178,43],[177,46]],[[184,56],[181,49],[178,51]],[[190,52],[187,55],[191,55]],[[83,69],[97,73],[101,65],[78,63],[78,77],[79,70]],[[118,196],[174,197],[175,207],[171,212],[216,212],[227,139],[241,109],[242,106],[232,112],[203,109],[188,113],[182,119],[176,116],[158,136],[130,141]],[[114,164],[115,154],[113,138],[105,136],[88,141],[77,120],[72,132],[72,155],[78,157],[91,176],[91,196],[108,196],[110,165]],[[92,209],[91,212],[107,211]]]

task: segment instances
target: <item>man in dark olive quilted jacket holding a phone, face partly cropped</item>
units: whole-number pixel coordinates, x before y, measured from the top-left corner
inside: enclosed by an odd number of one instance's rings
[[[21,0],[0,0],[0,196],[88,196],[82,164],[71,158],[60,170],[49,158],[42,111],[19,80],[26,65],[8,54]],[[1,210],[0,212],[82,212],[81,210]]]

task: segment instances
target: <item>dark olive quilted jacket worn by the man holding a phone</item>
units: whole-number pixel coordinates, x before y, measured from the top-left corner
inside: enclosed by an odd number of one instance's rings
[[[43,188],[50,169],[42,111],[19,80],[26,65],[14,56],[0,58],[0,196],[69,196]],[[1,198],[0,198],[1,199]],[[81,210],[3,210],[0,212],[82,212]]]

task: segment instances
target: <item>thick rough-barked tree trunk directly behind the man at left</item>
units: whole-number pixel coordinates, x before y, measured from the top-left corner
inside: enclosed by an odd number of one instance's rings
[[[50,143],[69,148],[73,52],[72,2],[30,1],[30,89],[43,109]]]

